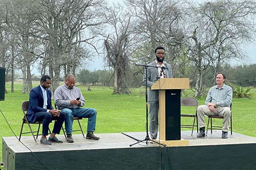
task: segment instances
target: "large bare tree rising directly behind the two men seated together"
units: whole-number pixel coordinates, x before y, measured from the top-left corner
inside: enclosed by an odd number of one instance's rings
[[[72,55],[75,54],[77,45],[90,44],[90,39],[95,38],[85,32],[83,36],[78,35],[90,27],[101,24],[101,5],[100,0],[40,1],[38,25],[45,34],[47,56],[44,63],[48,64],[50,76],[53,78],[53,91],[59,86],[61,66],[68,66],[70,60],[77,62],[83,56]],[[76,66],[77,63],[72,67]]]

